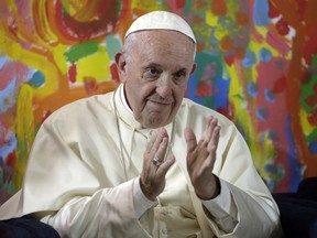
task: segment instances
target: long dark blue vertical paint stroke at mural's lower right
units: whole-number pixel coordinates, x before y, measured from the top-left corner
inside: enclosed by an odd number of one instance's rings
[[[288,142],[288,162],[289,162],[289,192],[296,192],[299,182],[302,181],[303,170],[297,161],[296,155],[296,144],[293,140],[293,134],[291,130],[291,118],[286,120],[285,134]]]

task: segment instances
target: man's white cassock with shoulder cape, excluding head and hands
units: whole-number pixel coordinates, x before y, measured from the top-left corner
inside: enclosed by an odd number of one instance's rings
[[[200,138],[209,115],[221,127],[212,171],[221,192],[201,201],[189,182],[183,133],[189,127]],[[61,108],[39,130],[22,190],[0,207],[0,219],[31,215],[76,238],[280,236],[278,208],[231,121],[184,99],[165,128],[176,163],[151,202],[139,184],[151,130],[134,120],[123,85]]]

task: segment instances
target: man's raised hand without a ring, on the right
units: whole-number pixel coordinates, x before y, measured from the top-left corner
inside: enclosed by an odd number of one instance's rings
[[[211,172],[216,160],[220,127],[218,120],[210,116],[207,127],[197,143],[192,129],[186,128],[184,136],[187,143],[187,171],[198,197],[212,199],[220,193],[218,177]]]

